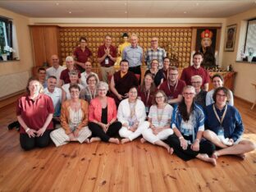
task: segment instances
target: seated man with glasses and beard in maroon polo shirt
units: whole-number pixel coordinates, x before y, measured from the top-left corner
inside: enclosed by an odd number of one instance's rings
[[[168,80],[165,80],[160,85],[160,90],[167,95],[169,104],[180,103],[182,100],[182,91],[185,87],[185,82],[178,79],[179,71],[175,66],[171,66],[168,71]]]

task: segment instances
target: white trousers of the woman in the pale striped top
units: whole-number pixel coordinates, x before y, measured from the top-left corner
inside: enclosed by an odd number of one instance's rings
[[[158,133],[158,135],[154,135],[152,129],[144,130],[142,132],[143,138],[149,141],[151,144],[154,144],[158,140],[167,139],[168,136],[172,134],[173,134],[173,130],[171,128],[162,130],[161,132]]]

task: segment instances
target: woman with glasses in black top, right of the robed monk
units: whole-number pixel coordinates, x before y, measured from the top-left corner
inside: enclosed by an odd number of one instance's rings
[[[153,82],[159,88],[159,85],[163,82],[162,70],[158,70],[159,62],[157,59],[153,59],[150,63],[151,68],[145,72],[145,75],[151,73],[153,75]]]

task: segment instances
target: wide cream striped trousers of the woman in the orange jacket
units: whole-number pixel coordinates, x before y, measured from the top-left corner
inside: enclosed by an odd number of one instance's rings
[[[80,142],[80,144],[82,144],[85,139],[89,138],[90,135],[92,135],[92,132],[89,130],[88,126],[84,126],[80,130],[77,140]],[[69,136],[66,135],[66,132],[62,127],[58,128],[57,130],[53,130],[50,134],[50,137],[56,147],[67,144],[70,140]]]

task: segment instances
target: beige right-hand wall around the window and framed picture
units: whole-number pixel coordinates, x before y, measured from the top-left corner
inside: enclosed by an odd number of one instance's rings
[[[237,72],[234,87],[235,96],[249,102],[254,102],[256,98],[256,89],[251,85],[251,83],[256,83],[256,64],[236,62],[236,58],[240,58],[240,49],[245,44],[246,21],[255,17],[256,8],[226,19],[226,25],[237,24],[237,34],[235,37],[235,51],[223,52],[222,55],[222,66],[232,64],[234,70]]]

